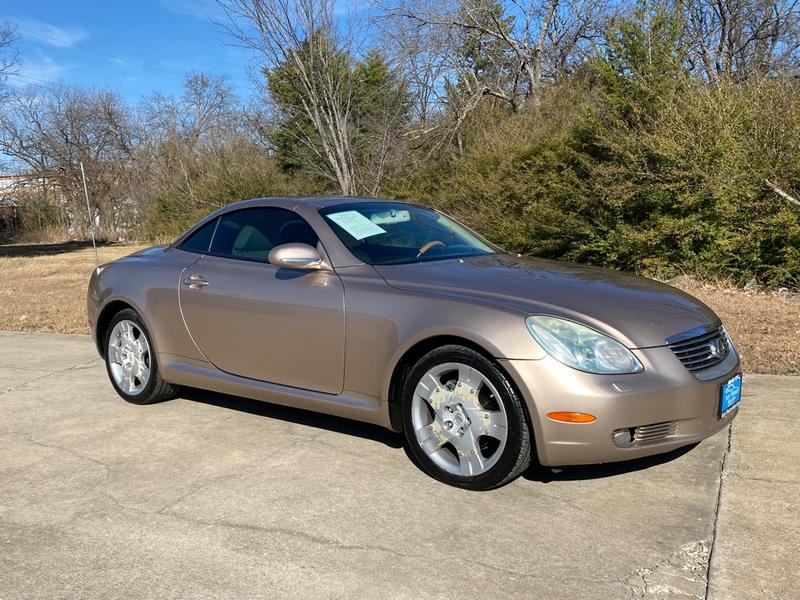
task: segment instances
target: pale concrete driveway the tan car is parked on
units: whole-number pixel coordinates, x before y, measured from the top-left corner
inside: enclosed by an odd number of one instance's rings
[[[799,400],[748,376],[730,435],[470,493],[390,432],[128,405],[88,338],[0,334],[0,598],[796,598]]]

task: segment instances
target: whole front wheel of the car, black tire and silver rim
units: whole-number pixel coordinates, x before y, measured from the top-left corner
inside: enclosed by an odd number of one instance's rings
[[[530,464],[530,430],[514,387],[495,363],[463,346],[433,350],[411,369],[403,429],[422,468],[457,487],[495,488]]]

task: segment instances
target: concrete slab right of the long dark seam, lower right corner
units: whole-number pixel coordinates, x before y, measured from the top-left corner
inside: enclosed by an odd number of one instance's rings
[[[722,472],[709,598],[800,598],[800,378],[751,375]]]

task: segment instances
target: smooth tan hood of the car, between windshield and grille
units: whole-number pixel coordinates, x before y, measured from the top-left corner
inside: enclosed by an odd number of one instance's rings
[[[669,285],[619,271],[508,254],[408,265],[376,265],[392,287],[475,298],[528,314],[585,323],[631,348],[720,325],[696,298]]]

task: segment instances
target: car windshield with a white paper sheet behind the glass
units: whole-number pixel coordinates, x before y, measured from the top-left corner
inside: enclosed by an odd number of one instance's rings
[[[402,202],[341,204],[320,210],[350,252],[370,265],[493,254],[497,248],[434,210]]]

